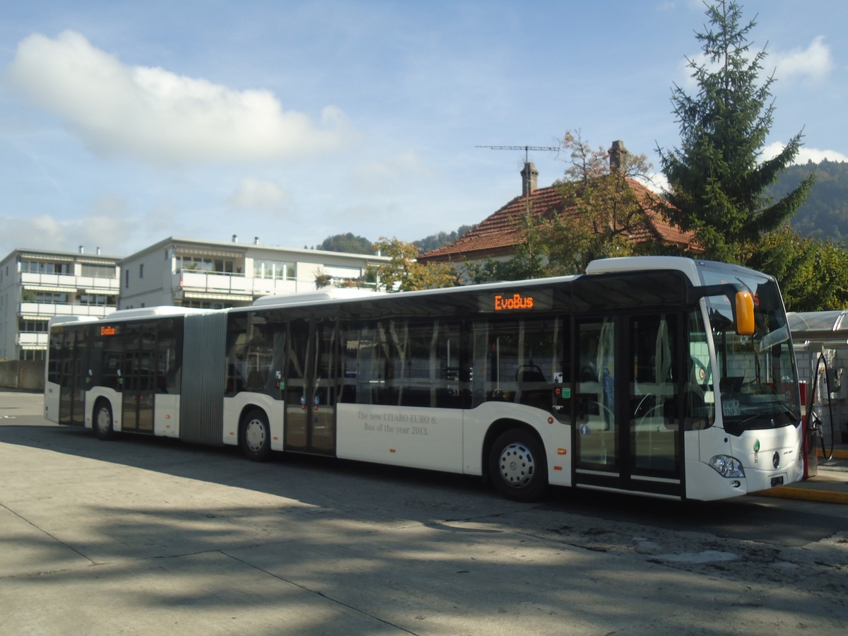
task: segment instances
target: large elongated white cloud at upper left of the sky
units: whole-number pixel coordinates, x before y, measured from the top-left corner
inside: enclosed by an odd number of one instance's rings
[[[59,115],[94,153],[153,163],[255,161],[331,152],[356,137],[327,106],[316,126],[268,91],[236,91],[127,66],[75,31],[20,42],[6,80]]]

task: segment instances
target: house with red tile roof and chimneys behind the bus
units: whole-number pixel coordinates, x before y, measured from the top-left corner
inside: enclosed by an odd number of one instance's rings
[[[621,165],[619,152],[627,152],[622,142],[613,142],[610,150],[611,170]],[[562,188],[558,185],[538,187],[538,170],[533,163],[527,163],[522,170],[522,194],[513,198],[493,215],[488,216],[470,232],[458,238],[454,243],[436,248],[418,257],[420,262],[453,262],[462,263],[466,260],[479,262],[492,258],[495,260],[509,259],[515,254],[516,248],[525,240],[522,227],[527,214],[534,220],[553,218],[555,215],[567,220],[576,216],[577,207],[570,204],[563,196]],[[631,178],[626,179],[646,212],[646,221],[639,226],[637,232],[628,234],[630,241],[644,243],[659,241],[666,245],[676,246],[686,250],[696,249],[693,232],[681,232],[672,226],[661,213],[661,199],[643,184]]]

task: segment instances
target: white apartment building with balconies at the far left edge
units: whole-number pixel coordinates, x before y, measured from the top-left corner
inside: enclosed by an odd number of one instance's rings
[[[54,315],[103,317],[115,310],[118,258],[15,249],[0,261],[0,360],[44,360]]]

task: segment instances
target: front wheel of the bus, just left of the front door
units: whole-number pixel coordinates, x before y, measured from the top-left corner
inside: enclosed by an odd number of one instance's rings
[[[510,428],[494,440],[488,455],[494,489],[514,501],[536,501],[548,487],[544,447],[530,432]]]

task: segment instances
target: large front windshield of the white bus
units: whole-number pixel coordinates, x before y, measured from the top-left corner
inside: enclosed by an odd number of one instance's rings
[[[754,295],[751,336],[736,333],[730,298],[706,298],[725,431],[739,435],[798,424],[795,354],[777,284],[752,271],[705,269],[702,276],[706,285],[741,283]]]

